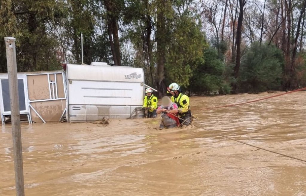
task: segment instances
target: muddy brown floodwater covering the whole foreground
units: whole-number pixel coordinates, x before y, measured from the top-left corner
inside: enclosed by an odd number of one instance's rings
[[[208,130],[306,159],[306,92],[192,97]],[[155,120],[23,124],[27,196],[306,195],[306,163],[200,128],[157,130]],[[0,195],[15,195],[11,127],[0,131]]]

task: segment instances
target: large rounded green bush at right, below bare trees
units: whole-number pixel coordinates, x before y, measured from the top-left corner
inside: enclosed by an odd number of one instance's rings
[[[237,80],[240,92],[279,90],[282,82],[282,52],[275,46],[253,43],[242,57]]]

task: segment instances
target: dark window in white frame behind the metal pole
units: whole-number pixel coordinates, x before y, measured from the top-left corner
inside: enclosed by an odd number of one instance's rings
[[[1,87],[2,87],[2,100],[3,100],[3,111],[10,112],[10,97],[9,97],[9,79],[1,79]],[[25,97],[24,97],[24,80],[18,79],[18,92],[19,92],[19,108],[20,111],[25,111]]]

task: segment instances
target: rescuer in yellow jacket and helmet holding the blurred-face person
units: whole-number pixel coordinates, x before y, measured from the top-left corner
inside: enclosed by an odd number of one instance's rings
[[[178,117],[183,128],[192,122],[192,115],[189,109],[189,97],[181,92],[181,88],[177,83],[172,83],[167,88],[172,95],[171,101],[177,104]]]

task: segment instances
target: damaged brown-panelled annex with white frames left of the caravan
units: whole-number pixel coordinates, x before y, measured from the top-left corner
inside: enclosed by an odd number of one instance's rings
[[[66,80],[63,71],[17,74],[22,119],[32,122],[59,122],[66,119]],[[2,124],[10,121],[8,74],[0,73],[0,113]]]

